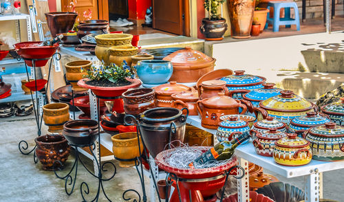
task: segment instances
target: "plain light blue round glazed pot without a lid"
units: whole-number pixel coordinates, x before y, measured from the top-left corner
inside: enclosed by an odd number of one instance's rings
[[[171,78],[173,66],[165,60],[142,60],[136,65],[136,73],[144,84],[164,84]]]

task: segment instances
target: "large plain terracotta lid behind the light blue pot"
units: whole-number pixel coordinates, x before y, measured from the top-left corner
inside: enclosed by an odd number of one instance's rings
[[[169,60],[173,65],[180,66],[207,66],[210,63],[215,63],[214,58],[211,58],[197,50],[191,49],[191,47],[185,47],[185,49],[173,52],[172,54],[169,54],[168,56],[164,57],[163,60]]]

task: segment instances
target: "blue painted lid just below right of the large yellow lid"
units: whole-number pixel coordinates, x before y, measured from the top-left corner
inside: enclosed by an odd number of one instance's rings
[[[303,115],[292,119],[290,121],[290,124],[294,126],[311,127],[320,124],[325,124],[331,121],[327,117],[323,117],[322,115],[316,114],[316,112],[314,111],[308,111],[306,114],[307,115]]]

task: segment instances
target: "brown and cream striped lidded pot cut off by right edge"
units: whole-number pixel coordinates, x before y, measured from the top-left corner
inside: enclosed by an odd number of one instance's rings
[[[313,126],[305,131],[310,142],[313,159],[319,161],[340,161],[344,159],[344,126],[328,122]]]

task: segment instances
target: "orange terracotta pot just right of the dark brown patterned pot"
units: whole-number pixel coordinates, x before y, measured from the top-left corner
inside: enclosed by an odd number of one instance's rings
[[[155,96],[157,100],[157,106],[159,107],[170,107],[173,98],[171,97],[174,93],[180,93],[182,91],[195,91],[193,87],[187,87],[185,85],[177,84],[175,81],[171,81],[168,84],[160,85],[158,87],[154,87],[155,89]]]

